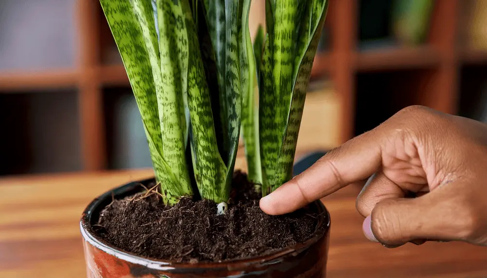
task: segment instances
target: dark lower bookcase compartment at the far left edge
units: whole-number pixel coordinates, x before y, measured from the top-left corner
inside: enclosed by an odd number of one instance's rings
[[[0,94],[0,175],[81,169],[75,90]]]

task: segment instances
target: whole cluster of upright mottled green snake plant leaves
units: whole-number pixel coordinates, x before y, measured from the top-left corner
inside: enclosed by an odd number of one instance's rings
[[[327,1],[266,0],[253,44],[250,2],[100,0],[166,204],[228,202],[241,130],[263,195],[291,178]]]

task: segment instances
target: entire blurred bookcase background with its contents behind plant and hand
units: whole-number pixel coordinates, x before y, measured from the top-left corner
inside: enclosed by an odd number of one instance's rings
[[[298,153],[412,104],[487,121],[486,93],[487,0],[331,0]],[[0,0],[0,175],[150,166],[98,0]]]

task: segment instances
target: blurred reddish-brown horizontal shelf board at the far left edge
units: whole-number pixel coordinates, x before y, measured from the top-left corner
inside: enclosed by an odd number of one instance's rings
[[[0,73],[0,93],[27,90],[73,88],[77,85],[79,74],[72,69],[56,69],[39,72]]]

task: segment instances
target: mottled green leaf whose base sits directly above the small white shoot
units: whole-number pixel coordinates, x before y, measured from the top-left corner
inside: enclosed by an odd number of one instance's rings
[[[227,168],[218,153],[210,92],[206,83],[197,36],[197,26],[187,0],[179,0],[185,15],[188,38],[187,106],[191,118],[191,151],[200,195],[216,203],[227,202]]]

